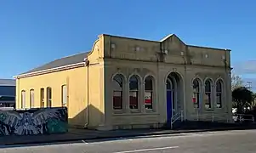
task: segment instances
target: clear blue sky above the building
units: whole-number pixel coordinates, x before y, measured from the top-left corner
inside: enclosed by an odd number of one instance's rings
[[[230,48],[237,74],[256,88],[256,1],[0,1],[0,78],[92,48],[101,33]],[[250,68],[247,68],[250,65]]]

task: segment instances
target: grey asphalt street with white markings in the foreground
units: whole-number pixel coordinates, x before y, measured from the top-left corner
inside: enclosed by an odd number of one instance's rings
[[[255,153],[256,130],[184,133],[66,144],[6,146],[6,153]]]

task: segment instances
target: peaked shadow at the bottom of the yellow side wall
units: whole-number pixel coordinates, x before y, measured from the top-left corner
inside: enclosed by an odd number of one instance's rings
[[[87,116],[88,114],[88,116]],[[104,114],[94,105],[88,105],[87,108],[80,111],[77,116],[68,119],[70,127],[91,129],[99,127],[101,123],[104,123]]]

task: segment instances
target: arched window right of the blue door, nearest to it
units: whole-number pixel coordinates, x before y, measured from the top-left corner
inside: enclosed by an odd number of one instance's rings
[[[193,81],[193,104],[194,108],[199,108],[200,106],[200,93],[201,93],[201,83],[199,79],[194,79]]]

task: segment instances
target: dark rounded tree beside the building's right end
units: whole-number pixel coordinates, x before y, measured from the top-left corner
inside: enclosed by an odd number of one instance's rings
[[[237,108],[237,113],[244,113],[244,108],[251,106],[254,95],[251,90],[246,87],[238,87],[232,91],[233,106]]]

